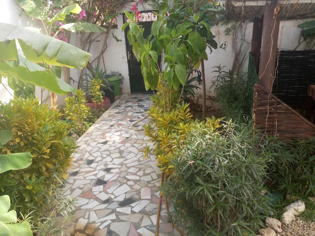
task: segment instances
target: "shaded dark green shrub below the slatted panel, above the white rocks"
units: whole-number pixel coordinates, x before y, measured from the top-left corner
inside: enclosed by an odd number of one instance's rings
[[[276,138],[268,143],[274,153],[270,165],[277,190],[300,196],[315,196],[315,138],[297,139],[288,143]]]

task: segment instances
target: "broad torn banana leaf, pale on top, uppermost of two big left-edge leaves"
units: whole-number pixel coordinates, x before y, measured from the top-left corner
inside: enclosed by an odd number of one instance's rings
[[[20,26],[0,23],[0,32],[0,49],[5,48],[8,44],[10,46],[6,48],[6,51],[1,50],[0,54],[4,53],[4,55],[0,55],[2,61],[17,61],[16,45],[12,43],[12,41],[15,42],[15,39],[19,41],[26,59],[35,63],[82,69],[87,65],[91,56],[69,43]]]

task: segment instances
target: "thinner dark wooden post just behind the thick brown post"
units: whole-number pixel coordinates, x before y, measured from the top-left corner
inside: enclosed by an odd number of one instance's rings
[[[257,74],[259,69],[259,57],[261,50],[262,23],[263,18],[254,19],[251,53],[255,58],[255,67]]]

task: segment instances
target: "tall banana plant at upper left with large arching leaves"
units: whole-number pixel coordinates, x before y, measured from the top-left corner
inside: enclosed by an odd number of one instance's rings
[[[13,75],[24,82],[48,89],[52,98],[54,93],[62,95],[75,93],[73,87],[60,80],[61,67],[82,69],[87,65],[91,55],[55,37],[62,29],[76,33],[104,32],[106,29],[90,23],[77,22],[62,25],[54,37],[50,37],[52,25],[56,21],[65,20],[66,15],[79,14],[82,11],[80,6],[69,5],[48,19],[42,0],[16,0],[16,2],[29,16],[42,22],[46,35],[39,34],[40,29],[30,30],[0,23],[0,30],[4,32],[0,36],[0,49],[7,52],[0,56],[0,71],[4,76]],[[17,54],[15,39],[18,40],[25,58]],[[44,67],[37,64],[42,64]],[[54,105],[53,100],[52,105]]]

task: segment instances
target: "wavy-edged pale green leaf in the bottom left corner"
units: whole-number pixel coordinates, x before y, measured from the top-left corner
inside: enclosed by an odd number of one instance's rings
[[[10,209],[8,195],[0,197],[0,235],[2,236],[32,236],[31,226],[28,222],[17,222],[16,211]],[[8,212],[9,211],[9,212]],[[14,223],[14,224],[12,224]]]

